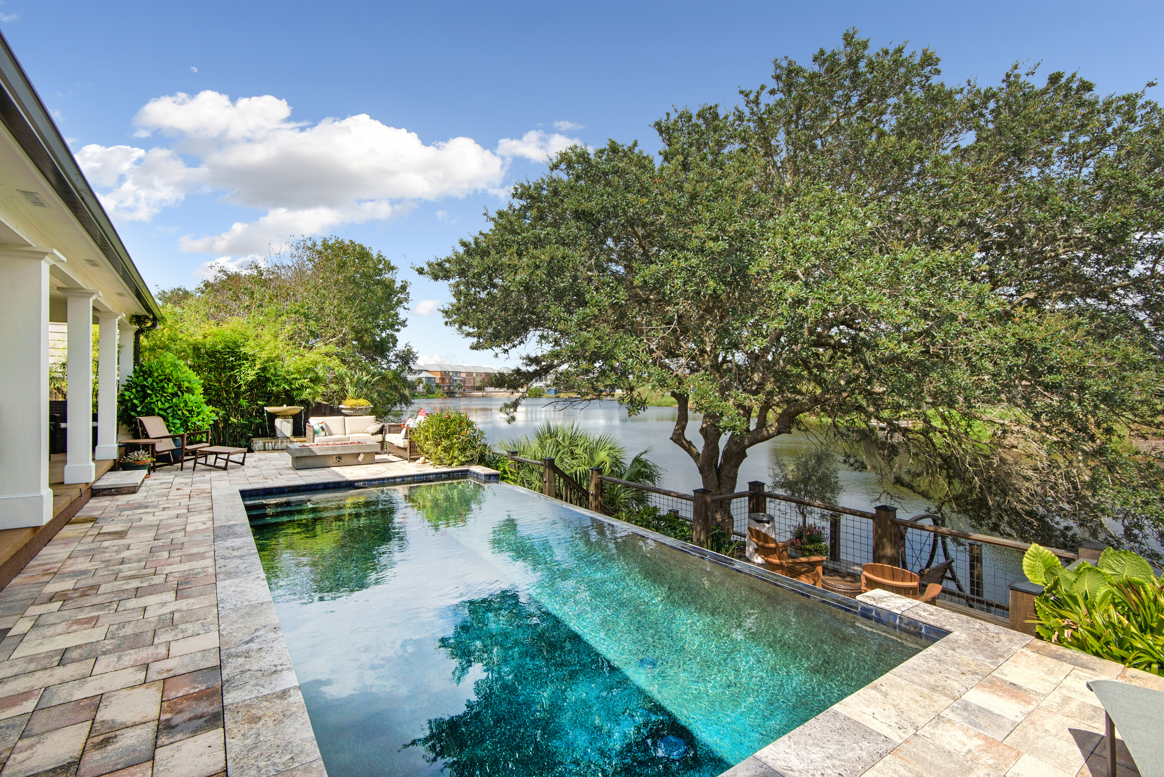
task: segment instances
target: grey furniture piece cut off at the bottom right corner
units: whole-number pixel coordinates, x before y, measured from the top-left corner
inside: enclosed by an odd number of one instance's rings
[[[1159,722],[1164,693],[1119,680],[1092,680],[1087,687],[1103,705],[1108,777],[1116,777],[1116,726],[1141,777],[1164,777],[1164,736]]]

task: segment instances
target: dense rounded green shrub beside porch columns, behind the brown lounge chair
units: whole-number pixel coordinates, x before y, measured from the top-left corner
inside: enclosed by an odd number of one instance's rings
[[[159,415],[173,434],[201,432],[218,418],[203,398],[203,382],[185,362],[161,352],[134,368],[118,395],[118,420],[134,428],[140,415]]]

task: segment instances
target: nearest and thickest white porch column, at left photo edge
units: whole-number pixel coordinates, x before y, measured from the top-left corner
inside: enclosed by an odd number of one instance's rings
[[[48,249],[0,247],[0,529],[52,520]]]

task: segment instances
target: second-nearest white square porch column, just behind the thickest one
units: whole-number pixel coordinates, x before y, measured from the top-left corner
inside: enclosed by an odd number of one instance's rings
[[[69,298],[69,483],[92,483],[93,468],[93,298],[92,288],[62,288]]]

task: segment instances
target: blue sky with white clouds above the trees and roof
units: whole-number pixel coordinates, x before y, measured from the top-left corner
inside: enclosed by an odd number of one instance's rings
[[[289,233],[336,234],[430,301],[404,340],[478,364],[508,362],[446,328],[431,308],[447,288],[410,265],[481,229],[546,150],[654,149],[650,123],[672,106],[733,104],[774,57],[807,62],[847,27],[929,45],[947,81],[1041,60],[1131,91],[1164,76],[1162,22],[1159,2],[0,5],[151,286],[193,285]]]

